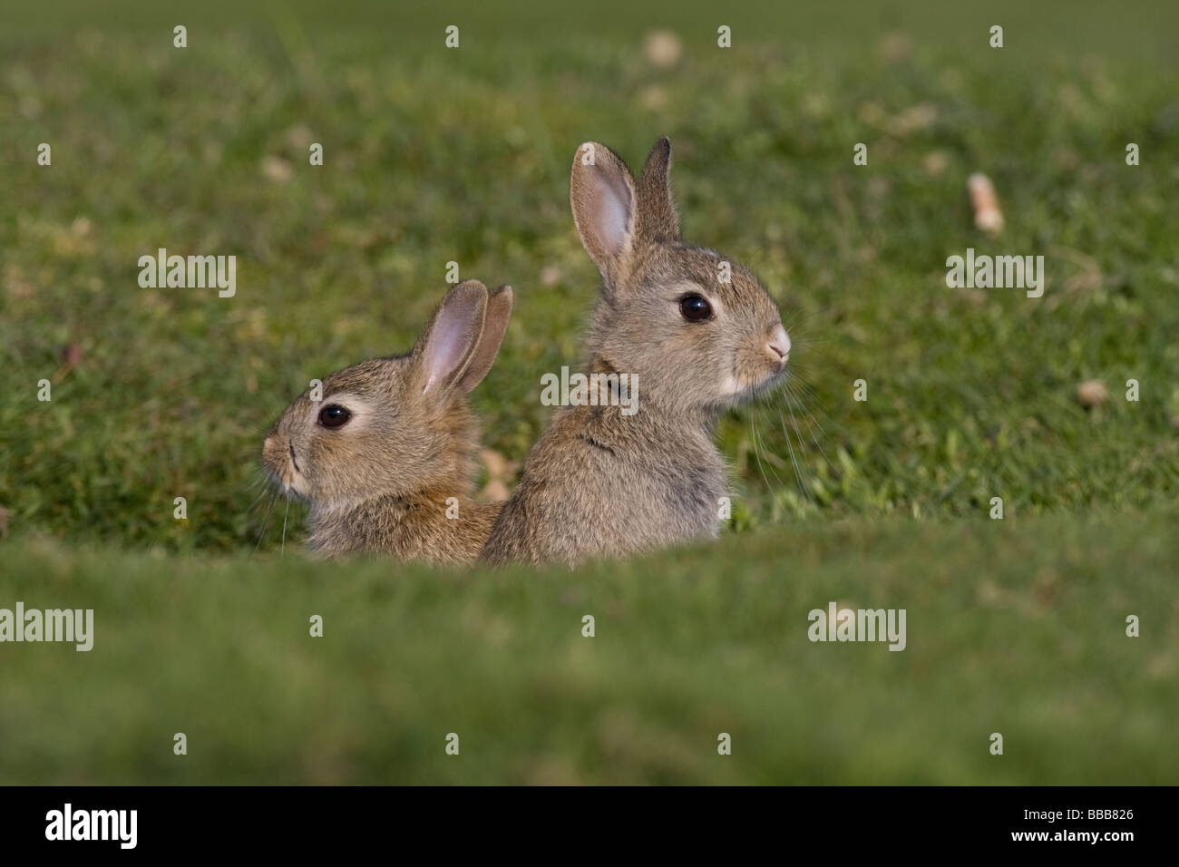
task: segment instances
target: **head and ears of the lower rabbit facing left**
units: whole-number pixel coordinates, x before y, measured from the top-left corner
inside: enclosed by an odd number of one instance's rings
[[[441,486],[467,493],[475,420],[466,394],[487,374],[512,313],[512,288],[452,288],[413,352],[371,359],[309,388],[275,422],[263,464],[283,493],[332,511]]]

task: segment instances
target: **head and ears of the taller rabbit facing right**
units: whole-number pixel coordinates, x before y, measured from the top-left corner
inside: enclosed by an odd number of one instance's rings
[[[594,367],[632,374],[663,412],[716,412],[775,385],[790,337],[753,274],[680,239],[670,166],[667,138],[639,180],[608,147],[578,149],[573,219],[602,281],[588,349]]]

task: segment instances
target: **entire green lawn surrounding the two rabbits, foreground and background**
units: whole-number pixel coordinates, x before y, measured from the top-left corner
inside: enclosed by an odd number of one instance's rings
[[[92,605],[99,637],[0,645],[0,781],[1175,781],[1179,7],[241,6],[5,13],[0,607]],[[722,543],[572,574],[316,564],[296,506],[281,558],[262,432],[408,348],[449,261],[516,289],[474,403],[525,457],[595,294],[574,150],[639,163],[663,133],[686,238],[752,267],[798,347],[793,399],[722,421]],[[158,247],[237,255],[236,297],[140,289]],[[1043,255],[1045,296],[948,289],[968,247]],[[832,599],[907,606],[909,649],[811,645]]]

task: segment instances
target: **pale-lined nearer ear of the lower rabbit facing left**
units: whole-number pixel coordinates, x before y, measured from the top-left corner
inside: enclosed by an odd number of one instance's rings
[[[487,287],[468,280],[454,287],[414,348],[422,394],[454,385],[475,356],[487,314]]]

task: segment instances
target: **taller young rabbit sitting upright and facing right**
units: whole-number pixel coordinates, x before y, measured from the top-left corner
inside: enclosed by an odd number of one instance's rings
[[[630,412],[554,413],[483,560],[573,565],[719,532],[727,485],[712,429],[783,376],[790,337],[750,271],[680,241],[670,162],[661,138],[635,182],[610,149],[578,149],[573,219],[602,280],[584,372],[630,374],[638,396]]]

